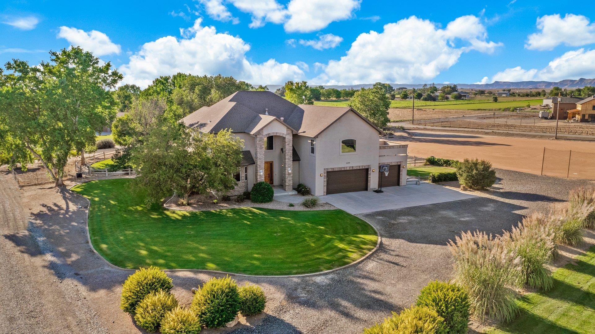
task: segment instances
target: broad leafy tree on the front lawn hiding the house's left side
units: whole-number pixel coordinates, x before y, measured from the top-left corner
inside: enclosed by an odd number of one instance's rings
[[[182,124],[158,122],[132,150],[135,181],[152,202],[172,193],[183,204],[191,193],[226,193],[236,186],[233,175],[242,162],[243,145],[231,130],[198,136]]]

